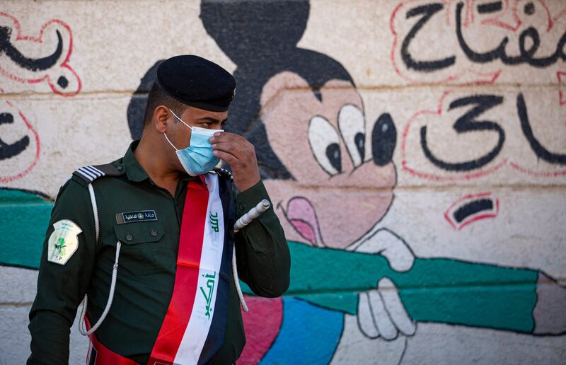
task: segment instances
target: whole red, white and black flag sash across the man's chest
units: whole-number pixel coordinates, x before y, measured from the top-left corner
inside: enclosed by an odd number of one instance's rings
[[[224,340],[228,280],[218,175],[191,180],[179,238],[173,296],[148,364],[202,364]]]

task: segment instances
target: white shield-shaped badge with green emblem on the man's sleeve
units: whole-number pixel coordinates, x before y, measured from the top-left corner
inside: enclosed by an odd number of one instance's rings
[[[62,219],[53,224],[55,230],[49,236],[47,261],[65,265],[79,248],[79,233],[83,230],[74,221]]]

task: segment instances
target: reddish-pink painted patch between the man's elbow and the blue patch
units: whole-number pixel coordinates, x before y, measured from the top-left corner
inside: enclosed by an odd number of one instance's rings
[[[281,298],[246,296],[250,311],[242,312],[243,328],[246,331],[246,347],[238,364],[258,364],[275,341],[283,319]]]

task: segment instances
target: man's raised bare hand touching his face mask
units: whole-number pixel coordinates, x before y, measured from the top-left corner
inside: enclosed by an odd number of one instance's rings
[[[255,148],[245,138],[230,132],[217,132],[210,139],[214,156],[228,163],[236,189],[240,192],[253,187],[260,181]]]

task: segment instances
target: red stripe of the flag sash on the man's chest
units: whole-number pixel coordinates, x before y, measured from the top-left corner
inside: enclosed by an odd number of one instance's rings
[[[147,364],[173,364],[183,340],[197,294],[208,198],[206,185],[198,180],[189,182],[181,221],[173,296]]]

